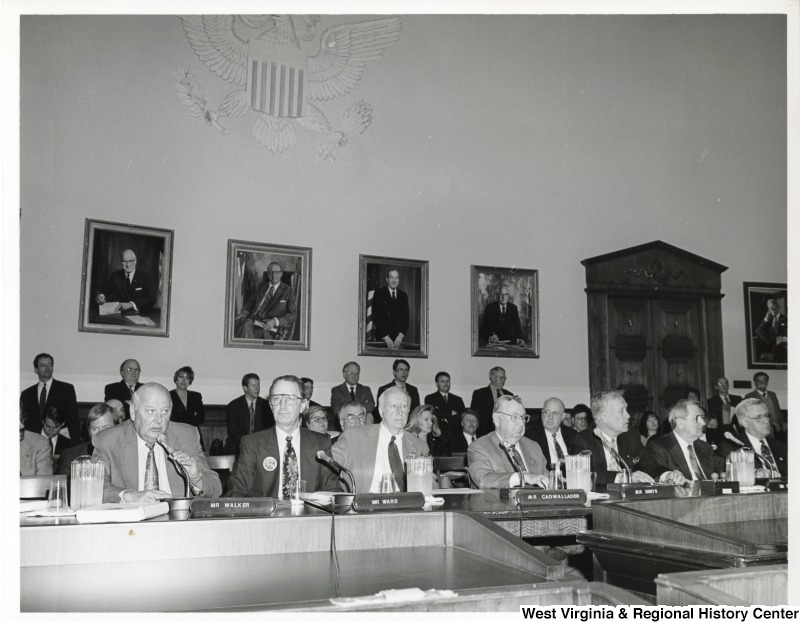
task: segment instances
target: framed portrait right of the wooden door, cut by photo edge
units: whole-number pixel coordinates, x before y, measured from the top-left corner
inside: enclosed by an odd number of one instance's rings
[[[786,283],[744,283],[748,369],[787,369]]]

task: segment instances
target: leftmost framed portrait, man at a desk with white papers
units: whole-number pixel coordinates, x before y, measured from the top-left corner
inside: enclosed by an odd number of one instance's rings
[[[173,237],[87,218],[78,330],[168,337]]]

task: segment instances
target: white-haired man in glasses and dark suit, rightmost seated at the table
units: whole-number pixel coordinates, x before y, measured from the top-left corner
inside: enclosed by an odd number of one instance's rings
[[[725,435],[725,455],[734,449],[749,447],[756,452],[757,477],[787,477],[789,454],[786,443],[770,435],[770,414],[763,401],[757,397],[746,397],[736,407],[736,418],[740,430]]]

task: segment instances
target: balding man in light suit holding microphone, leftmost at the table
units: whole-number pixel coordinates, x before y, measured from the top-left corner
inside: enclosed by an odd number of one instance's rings
[[[131,420],[107,428],[92,438],[94,460],[105,464],[104,503],[154,503],[183,497],[185,482],[173,461],[189,478],[192,496],[219,497],[222,486],[200,448],[200,433],[192,425],[170,424],[172,399],[155,382],[133,394]],[[171,458],[158,443],[164,434]]]

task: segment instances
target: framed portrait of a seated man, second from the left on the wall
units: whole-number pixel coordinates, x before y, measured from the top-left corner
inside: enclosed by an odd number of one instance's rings
[[[225,347],[308,350],[311,249],[228,240]]]

